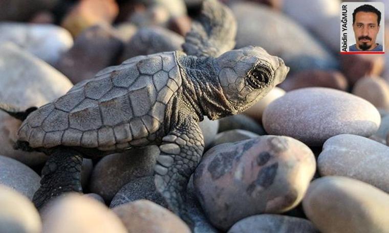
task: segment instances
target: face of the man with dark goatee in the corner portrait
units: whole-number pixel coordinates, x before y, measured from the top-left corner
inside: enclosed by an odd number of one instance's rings
[[[374,49],[380,26],[378,26],[378,15],[373,12],[360,11],[355,14],[353,25],[355,41],[360,50]]]

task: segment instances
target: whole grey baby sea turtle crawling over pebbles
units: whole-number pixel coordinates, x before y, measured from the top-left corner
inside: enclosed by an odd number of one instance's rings
[[[182,216],[183,194],[204,149],[199,122],[205,115],[213,120],[244,111],[289,71],[262,48],[230,50],[235,33],[229,9],[207,0],[183,52],[138,56],[107,67],[37,109],[2,105],[23,120],[15,148],[50,155],[35,205],[64,192],[82,192],[83,157],[158,145],[156,189]]]

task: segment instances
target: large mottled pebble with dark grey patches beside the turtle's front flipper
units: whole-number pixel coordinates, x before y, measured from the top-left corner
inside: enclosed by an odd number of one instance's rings
[[[242,218],[296,206],[315,169],[306,145],[291,137],[264,135],[211,148],[193,181],[210,222],[227,230]]]

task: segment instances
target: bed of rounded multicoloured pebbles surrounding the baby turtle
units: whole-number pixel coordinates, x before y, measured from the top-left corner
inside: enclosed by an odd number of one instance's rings
[[[389,232],[388,56],[339,55],[339,0],[222,2],[236,48],[262,46],[291,71],[244,114],[201,123],[192,229],[155,190],[154,146],[84,159],[85,195],[39,213],[47,156],[13,150],[21,122],[0,112],[0,232]],[[200,4],[0,0],[0,101],[41,106],[106,66],[181,50]]]

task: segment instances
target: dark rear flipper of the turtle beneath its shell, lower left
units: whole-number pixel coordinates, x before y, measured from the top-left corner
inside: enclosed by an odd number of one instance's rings
[[[61,147],[54,149],[42,169],[40,187],[33,202],[40,209],[52,198],[67,192],[82,192],[80,153]]]

